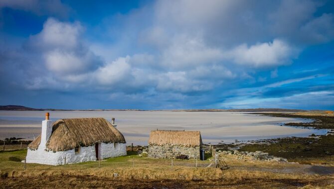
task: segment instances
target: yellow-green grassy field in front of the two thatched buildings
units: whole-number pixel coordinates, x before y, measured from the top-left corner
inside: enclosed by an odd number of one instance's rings
[[[300,164],[239,161],[224,157],[230,169],[205,168],[209,160],[171,160],[127,156],[65,166],[27,164],[26,150],[0,152],[1,188],[296,188],[334,187],[334,174],[314,174]],[[135,164],[133,164],[135,162]],[[135,167],[133,167],[135,165]],[[304,170],[304,172],[303,172]]]

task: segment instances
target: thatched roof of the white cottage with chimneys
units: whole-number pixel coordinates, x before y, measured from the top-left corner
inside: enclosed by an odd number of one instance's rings
[[[95,143],[125,143],[124,136],[104,118],[59,119],[52,125],[52,134],[46,143],[48,150],[57,152]],[[29,149],[37,149],[40,135],[32,141]]]

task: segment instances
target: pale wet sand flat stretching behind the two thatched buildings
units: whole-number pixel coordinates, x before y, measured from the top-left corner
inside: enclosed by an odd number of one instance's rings
[[[38,136],[43,111],[0,111],[0,139]],[[310,119],[269,117],[244,112],[183,112],[183,111],[50,111],[50,119],[75,117],[116,118],[117,128],[127,143],[147,145],[151,130],[198,130],[204,143],[222,140],[247,141],[286,136],[325,134],[326,130],[280,126],[287,122],[309,122]]]

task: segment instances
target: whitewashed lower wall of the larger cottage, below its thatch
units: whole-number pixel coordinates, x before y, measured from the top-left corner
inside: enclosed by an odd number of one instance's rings
[[[116,143],[100,143],[99,144],[99,157],[100,159],[125,156],[126,144]],[[47,165],[63,165],[66,157],[66,164],[73,164],[79,162],[96,161],[95,145],[88,147],[80,147],[79,153],[75,154],[74,149],[61,152],[45,151],[44,148],[38,147],[37,150],[27,151],[26,162],[38,163]]]

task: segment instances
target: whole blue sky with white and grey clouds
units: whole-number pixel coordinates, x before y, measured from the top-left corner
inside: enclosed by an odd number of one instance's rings
[[[0,0],[0,104],[334,109],[333,0]]]

